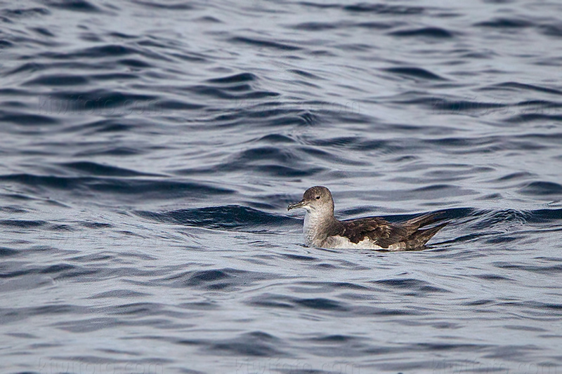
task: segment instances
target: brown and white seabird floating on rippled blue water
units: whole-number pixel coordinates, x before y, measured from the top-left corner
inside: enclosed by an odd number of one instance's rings
[[[287,211],[303,208],[304,241],[306,246],[320,248],[361,248],[386,251],[408,251],[424,248],[447,223],[419,229],[437,222],[440,213],[420,215],[411,220],[398,223],[386,222],[383,218],[367,217],[355,220],[336,220],[334,199],[329,189],[322,186],[311,187],[298,203],[290,204]]]

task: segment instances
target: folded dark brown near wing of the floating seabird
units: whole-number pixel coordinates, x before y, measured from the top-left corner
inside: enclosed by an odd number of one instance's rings
[[[389,223],[379,217],[360,218],[358,220],[341,221],[343,234],[352,243],[359,243],[366,237],[377,246],[388,248],[393,243],[404,241],[411,234],[407,227]]]

